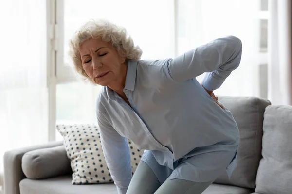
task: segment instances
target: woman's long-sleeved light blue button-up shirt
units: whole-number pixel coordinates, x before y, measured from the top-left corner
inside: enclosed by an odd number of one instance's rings
[[[127,139],[145,149],[160,183],[167,177],[207,182],[236,167],[237,124],[201,87],[218,89],[241,59],[241,41],[216,39],[175,59],[129,61],[124,92],[131,107],[109,87],[97,99],[101,143],[120,194],[132,178]]]

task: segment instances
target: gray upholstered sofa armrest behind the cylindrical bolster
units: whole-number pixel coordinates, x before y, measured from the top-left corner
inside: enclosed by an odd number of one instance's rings
[[[49,142],[42,145],[24,147],[7,151],[4,154],[4,193],[20,194],[19,182],[25,178],[22,171],[22,156],[29,151],[63,145],[62,141]]]

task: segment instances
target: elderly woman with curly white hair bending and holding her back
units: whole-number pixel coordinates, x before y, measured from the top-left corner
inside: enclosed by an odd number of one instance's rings
[[[238,128],[213,91],[240,63],[237,37],[174,59],[140,60],[124,28],[92,20],[70,48],[78,73],[103,86],[96,115],[119,194],[201,194],[222,173],[231,176]],[[204,72],[200,84],[196,76]],[[127,138],[145,149],[133,177]]]

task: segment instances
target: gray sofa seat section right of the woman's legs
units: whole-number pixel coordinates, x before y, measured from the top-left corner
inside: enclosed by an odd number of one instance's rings
[[[251,189],[236,186],[211,184],[202,194],[250,194],[252,192]]]

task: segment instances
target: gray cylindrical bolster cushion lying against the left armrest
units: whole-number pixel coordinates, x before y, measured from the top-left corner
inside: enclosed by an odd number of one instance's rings
[[[25,153],[22,157],[22,171],[31,179],[72,173],[64,146],[36,149]]]

